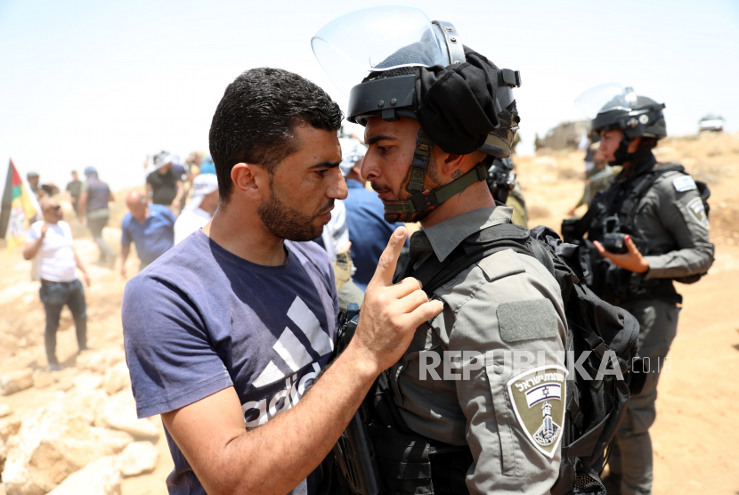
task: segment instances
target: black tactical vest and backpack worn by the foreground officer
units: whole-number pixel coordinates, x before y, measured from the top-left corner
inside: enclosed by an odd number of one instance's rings
[[[613,441],[629,395],[639,393],[644,375],[637,373],[638,365],[635,367],[639,328],[636,319],[600,300],[581,282],[585,271],[580,248],[563,244],[556,232],[546,227],[530,232],[509,223],[495,225],[469,236],[443,262],[431,256],[415,270],[408,266],[396,279],[411,275],[423,282],[424,291],[431,296],[436,288],[471,264],[505,249],[533,256],[555,277],[568,321],[567,350],[578,355],[589,351],[583,366],[592,376],[597,375],[605,351],[613,351],[618,357],[624,380],[605,376],[591,382],[577,379],[574,386],[568,386],[560,446],[562,462],[559,477],[551,488],[553,495],[605,495],[597,472],[604,465],[605,449]],[[358,320],[358,315],[354,315],[353,326],[342,326],[337,350],[348,345]],[[344,476],[337,476],[337,483],[329,482],[321,494],[467,494],[467,471],[474,461],[469,447],[437,442],[412,432],[394,402],[390,379],[389,370],[380,374],[353,419],[358,429],[360,423],[366,426],[370,442],[360,446],[365,448],[365,455],[358,455],[357,445],[350,444],[350,423],[334,447]],[[363,463],[362,457],[367,462]],[[361,474],[374,464],[379,479]],[[333,478],[324,476],[327,480]]]

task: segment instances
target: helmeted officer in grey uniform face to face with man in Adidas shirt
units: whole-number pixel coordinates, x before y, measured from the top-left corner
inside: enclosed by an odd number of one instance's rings
[[[313,37],[329,76],[341,89],[353,85],[347,118],[365,126],[361,175],[386,221],[423,227],[403,274],[421,280],[468,239],[517,229],[513,209],[496,204],[485,181],[495,158],[510,157],[521,78],[460,39],[451,23],[405,7],[353,12]],[[551,421],[562,425],[567,324],[556,280],[532,256],[507,249],[432,287],[424,290],[443,302],[442,314],[416,329],[374,395],[384,398],[370,434],[386,491],[548,493],[562,430],[537,439],[542,412],[523,384],[545,370],[563,377],[549,399]],[[470,353],[488,356],[486,364]],[[540,361],[516,359],[524,353]],[[382,417],[380,407],[394,412]]]

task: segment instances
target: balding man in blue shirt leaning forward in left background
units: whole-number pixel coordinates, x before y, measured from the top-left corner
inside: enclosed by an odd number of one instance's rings
[[[132,241],[141,260],[139,271],[175,246],[175,215],[169,208],[150,205],[139,191],[128,193],[126,207],[130,213],[121,222],[120,239],[120,275],[124,279]]]

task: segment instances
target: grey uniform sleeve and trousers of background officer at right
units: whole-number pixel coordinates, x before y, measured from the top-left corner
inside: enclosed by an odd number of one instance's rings
[[[714,248],[708,217],[692,179],[685,174],[667,172],[654,182],[639,200],[635,226],[634,234],[647,243],[646,280],[687,277],[711,267]],[[653,481],[648,430],[656,418],[657,382],[678,331],[680,308],[674,302],[648,296],[619,305],[639,321],[639,355],[646,358],[645,369],[650,373],[642,393],[629,401],[608,464],[615,475],[613,481],[621,481],[622,495],[648,494]]]

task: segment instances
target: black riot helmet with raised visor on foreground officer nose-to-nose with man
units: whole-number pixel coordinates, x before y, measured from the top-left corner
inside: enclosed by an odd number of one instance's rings
[[[371,33],[371,40],[362,33]],[[401,198],[385,201],[386,218],[417,220],[484,181],[493,158],[510,157],[520,121],[512,88],[521,85],[521,75],[498,69],[463,45],[450,22],[431,21],[410,7],[374,7],[332,20],[311,45],[321,67],[349,96],[349,121],[366,126],[371,116],[411,118],[421,127]],[[460,155],[482,151],[488,158],[440,187],[426,174],[434,145]]]

